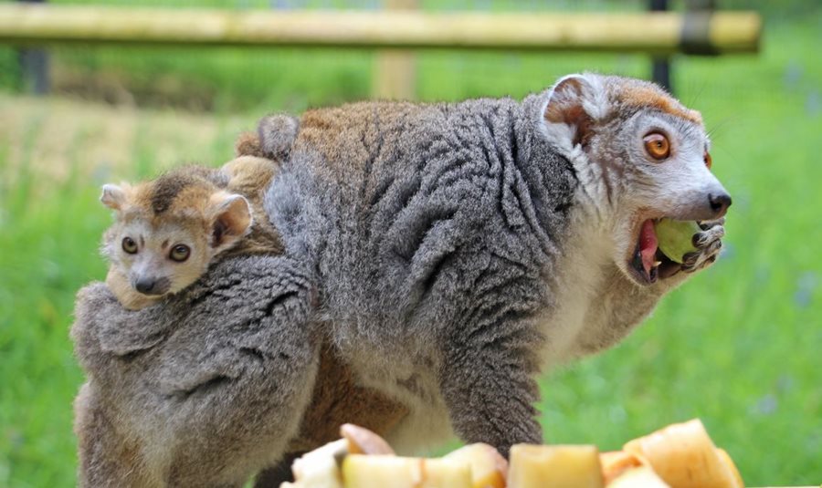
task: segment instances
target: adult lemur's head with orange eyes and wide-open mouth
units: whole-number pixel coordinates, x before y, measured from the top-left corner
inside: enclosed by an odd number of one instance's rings
[[[714,220],[731,205],[710,171],[700,113],[652,83],[567,76],[548,91],[542,115],[545,133],[574,165],[583,204],[614,239],[615,263],[640,285],[680,269],[657,249],[656,220]]]

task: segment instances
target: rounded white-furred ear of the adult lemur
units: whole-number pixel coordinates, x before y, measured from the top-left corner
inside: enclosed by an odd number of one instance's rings
[[[585,146],[600,111],[598,102],[595,84],[589,77],[568,75],[557,81],[548,93],[543,118],[549,124],[567,127],[573,146]]]

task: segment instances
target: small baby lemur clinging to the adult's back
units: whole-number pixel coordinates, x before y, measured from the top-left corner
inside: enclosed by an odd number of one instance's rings
[[[237,140],[237,157],[219,169],[189,165],[133,186],[103,185],[100,202],[115,213],[103,236],[106,285],[122,306],[140,309],[180,292],[217,256],[282,252],[262,198],[296,130],[296,119],[270,116]]]

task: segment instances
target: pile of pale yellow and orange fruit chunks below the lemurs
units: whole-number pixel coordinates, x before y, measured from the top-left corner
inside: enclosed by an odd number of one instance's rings
[[[511,462],[487,444],[437,459],[396,456],[381,437],[345,424],[342,439],[308,452],[280,488],[738,488],[742,477],[701,421],[672,424],[627,442],[511,447]]]

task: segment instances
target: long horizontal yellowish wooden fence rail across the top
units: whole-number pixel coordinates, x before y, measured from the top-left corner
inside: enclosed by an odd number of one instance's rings
[[[752,53],[754,12],[429,14],[0,4],[0,43]]]

